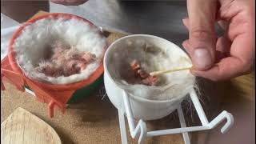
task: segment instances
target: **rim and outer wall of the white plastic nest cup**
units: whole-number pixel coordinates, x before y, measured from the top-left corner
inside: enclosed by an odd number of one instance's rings
[[[181,53],[185,53],[181,48],[174,45],[174,43],[167,41],[164,38],[159,38],[153,35],[147,34],[132,34],[113,42],[108,49],[104,57],[104,85],[106,88],[106,94],[110,98],[110,101],[117,109],[123,109],[123,91],[114,79],[111,78],[110,70],[108,70],[108,62],[110,62],[110,55],[114,52],[114,47],[126,45],[126,40],[130,38],[146,39],[152,42],[155,46],[166,46],[181,50]],[[125,46],[123,46],[125,47]],[[173,98],[170,100],[149,100],[146,98],[137,97],[135,95],[128,94],[130,98],[130,106],[134,118],[142,118],[143,120],[154,120],[163,118],[169,115],[178,108],[183,98]]]

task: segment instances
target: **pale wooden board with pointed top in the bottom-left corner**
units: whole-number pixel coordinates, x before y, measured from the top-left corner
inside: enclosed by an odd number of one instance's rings
[[[1,124],[4,144],[61,144],[54,129],[34,114],[18,107]]]

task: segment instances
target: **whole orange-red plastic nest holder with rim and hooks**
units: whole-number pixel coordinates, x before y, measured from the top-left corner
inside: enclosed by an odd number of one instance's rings
[[[29,86],[30,90],[34,92],[38,101],[48,103],[48,114],[50,118],[53,118],[54,106],[58,106],[62,110],[62,114],[64,114],[66,110],[66,102],[68,102],[69,99],[72,97],[74,91],[81,89],[84,86],[88,86],[90,85],[90,83],[98,79],[103,73],[103,64],[101,63],[101,65],[98,66],[97,70],[95,70],[89,78],[80,82],[74,82],[66,85],[43,83],[37,80],[27,78],[26,75],[23,73],[21,67],[18,65],[16,53],[13,51],[14,40],[18,38],[24,27],[40,19],[48,17],[66,19],[77,18],[82,22],[89,23],[91,27],[96,27],[92,22],[86,20],[85,18],[81,18],[72,14],[43,14],[42,16],[39,16],[37,18],[30,19],[28,22],[20,26],[18,30],[15,31],[13,37],[10,40],[8,54],[6,58],[4,58],[1,62],[1,90],[5,90],[5,86],[2,82],[3,78],[10,80],[10,82],[13,83],[16,88],[18,90],[21,90],[22,92],[25,91],[25,86]],[[106,50],[106,46],[104,47],[104,49]]]

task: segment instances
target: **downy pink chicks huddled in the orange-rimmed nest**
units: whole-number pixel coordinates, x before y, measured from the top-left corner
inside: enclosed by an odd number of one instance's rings
[[[80,52],[74,46],[66,46],[56,42],[52,46],[53,54],[47,60],[42,60],[35,67],[35,70],[50,77],[70,76],[79,74],[90,62],[96,60],[94,54],[90,52]]]

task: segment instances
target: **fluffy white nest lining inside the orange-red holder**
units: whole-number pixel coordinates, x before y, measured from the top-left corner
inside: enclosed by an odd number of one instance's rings
[[[46,76],[34,70],[34,67],[47,56],[47,47],[56,41],[62,41],[79,51],[95,54],[96,61],[91,62],[80,74],[57,78]],[[100,65],[106,47],[106,38],[97,28],[91,28],[88,22],[71,18],[44,18],[26,26],[14,41],[19,66],[29,78],[54,84],[68,84],[89,78]]]

